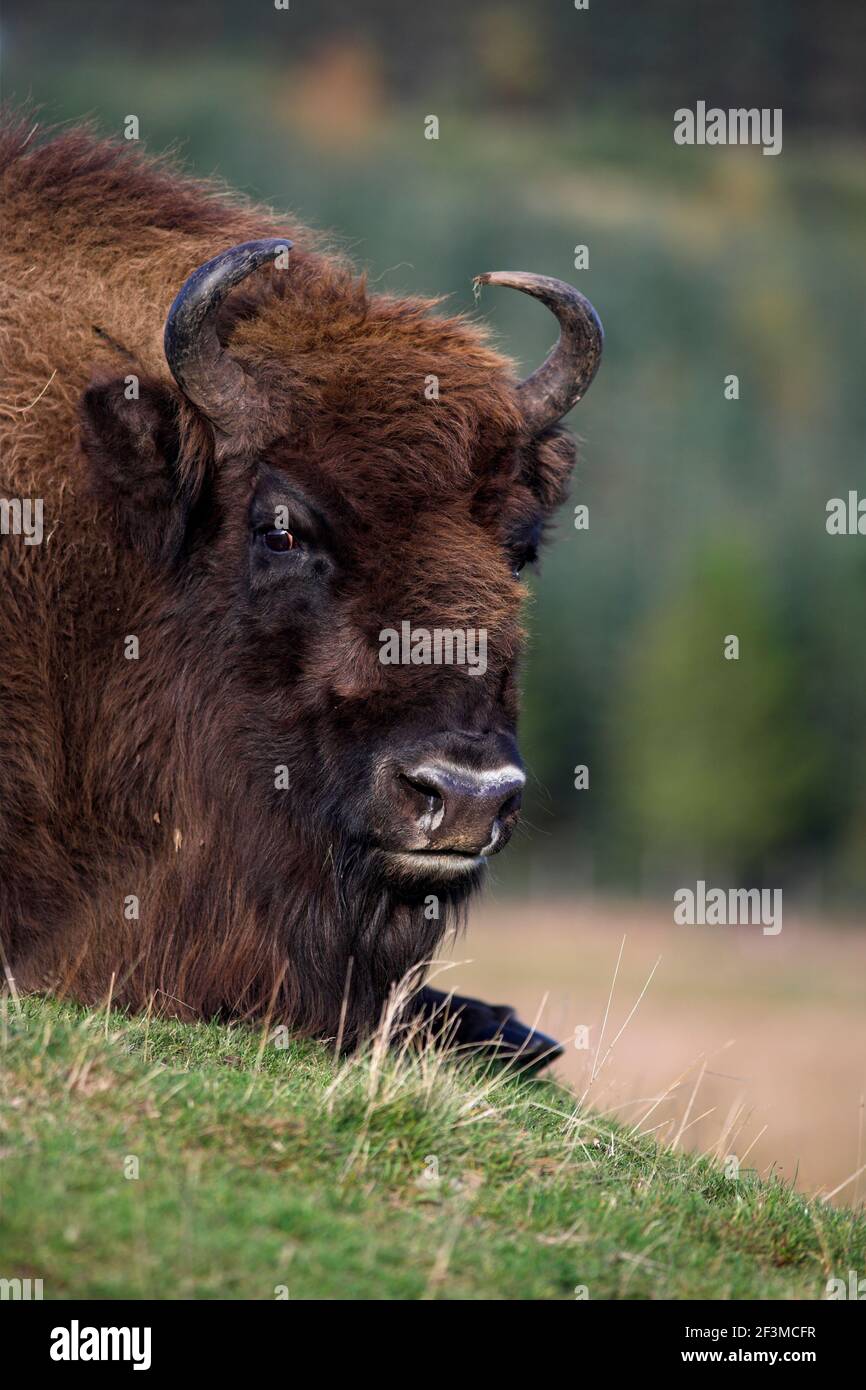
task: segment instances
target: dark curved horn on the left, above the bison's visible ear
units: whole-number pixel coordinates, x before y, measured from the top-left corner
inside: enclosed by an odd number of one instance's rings
[[[183,395],[225,434],[249,418],[259,393],[243,367],[217,338],[214,314],[228,292],[254,270],[288,252],[292,242],[240,242],[199,265],[181,286],[165,320],[164,349]]]

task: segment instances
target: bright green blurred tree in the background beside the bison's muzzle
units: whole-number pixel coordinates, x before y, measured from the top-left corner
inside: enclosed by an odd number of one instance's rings
[[[796,664],[751,548],[714,542],[635,634],[626,674],[621,788],[646,851],[745,880],[791,848],[822,767]]]

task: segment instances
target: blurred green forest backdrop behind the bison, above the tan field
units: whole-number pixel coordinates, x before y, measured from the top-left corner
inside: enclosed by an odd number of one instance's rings
[[[571,506],[530,580],[506,888],[866,899],[866,537],[824,527],[866,495],[863,26],[771,0],[4,6],[4,96],[46,120],[138,115],[382,289],[475,311],[474,274],[524,268],[599,309]],[[783,153],[677,147],[698,100],[781,107]],[[548,350],[521,296],[477,311],[524,368]]]

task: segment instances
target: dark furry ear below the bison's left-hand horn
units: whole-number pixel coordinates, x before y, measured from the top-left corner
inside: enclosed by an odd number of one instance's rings
[[[195,500],[179,466],[177,396],[143,377],[97,379],[81,399],[79,421],[93,492],[111,509],[122,541],[171,563]]]

